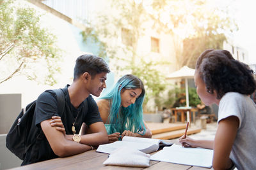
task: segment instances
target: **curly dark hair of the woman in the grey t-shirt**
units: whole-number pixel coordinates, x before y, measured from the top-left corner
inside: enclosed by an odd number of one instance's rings
[[[207,92],[216,90],[217,99],[227,92],[250,95],[256,89],[256,81],[250,67],[235,60],[227,50],[205,50],[196,61],[196,71],[204,80]]]

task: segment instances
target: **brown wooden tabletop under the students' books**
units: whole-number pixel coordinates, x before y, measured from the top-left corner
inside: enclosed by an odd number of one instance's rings
[[[155,152],[156,153],[156,152]],[[154,153],[152,153],[154,154]],[[180,164],[172,164],[168,162],[159,162],[150,160],[150,167],[124,167],[124,166],[104,166],[103,162],[108,159],[108,154],[95,152],[90,150],[88,152],[80,153],[71,157],[57,158],[52,160],[45,160],[28,166],[15,167],[14,169],[207,169],[204,167],[184,166]]]

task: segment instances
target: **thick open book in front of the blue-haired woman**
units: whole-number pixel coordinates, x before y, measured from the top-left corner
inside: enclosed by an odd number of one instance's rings
[[[96,152],[112,153],[116,148],[131,147],[136,148],[144,153],[155,152],[159,149],[159,146],[171,146],[173,143],[166,143],[161,139],[152,138],[138,138],[131,136],[124,136],[122,141],[115,141],[114,143],[108,143],[100,145]]]

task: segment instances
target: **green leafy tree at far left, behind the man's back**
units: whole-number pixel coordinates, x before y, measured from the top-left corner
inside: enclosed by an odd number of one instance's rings
[[[29,80],[47,85],[56,83],[60,71],[56,62],[60,49],[56,38],[40,26],[40,15],[17,1],[0,1],[0,83],[24,74]],[[45,66],[42,71],[38,69]],[[44,78],[38,74],[44,72]]]

